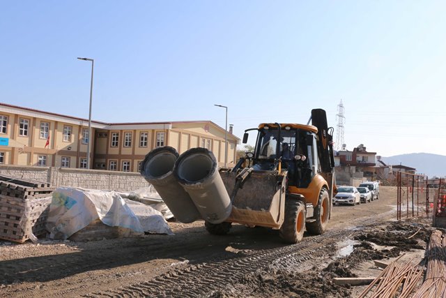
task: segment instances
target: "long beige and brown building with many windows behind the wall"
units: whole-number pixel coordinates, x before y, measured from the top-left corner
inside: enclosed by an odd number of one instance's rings
[[[89,121],[0,103],[0,164],[87,168]],[[205,147],[224,165],[225,131],[212,121],[110,124],[91,121],[90,168],[138,172],[146,154],[171,146],[180,154]],[[240,139],[227,133],[227,165]]]

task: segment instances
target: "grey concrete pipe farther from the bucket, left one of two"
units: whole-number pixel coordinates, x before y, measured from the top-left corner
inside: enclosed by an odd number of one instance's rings
[[[174,177],[174,165],[179,154],[172,147],[150,151],[141,165],[141,175],[153,185],[177,221],[192,223],[201,218],[197,207]]]

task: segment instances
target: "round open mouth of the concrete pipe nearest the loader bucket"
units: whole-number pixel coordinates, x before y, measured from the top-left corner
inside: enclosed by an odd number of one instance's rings
[[[178,165],[178,177],[194,183],[213,174],[213,159],[207,154],[192,154],[187,156]]]

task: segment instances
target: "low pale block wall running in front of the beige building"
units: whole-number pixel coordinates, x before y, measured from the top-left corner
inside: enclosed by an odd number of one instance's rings
[[[70,186],[111,191],[134,191],[150,185],[141,177],[141,174],[135,172],[0,165],[0,174],[46,181],[54,187]]]

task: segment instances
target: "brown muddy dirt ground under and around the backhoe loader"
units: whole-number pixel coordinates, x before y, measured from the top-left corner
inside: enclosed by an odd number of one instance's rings
[[[357,297],[365,286],[334,277],[376,277],[374,260],[420,262],[426,218],[396,221],[397,189],[334,206],[330,228],[284,244],[277,230],[169,223],[175,235],[12,244],[0,240],[0,297]],[[415,234],[415,236],[413,236]]]

